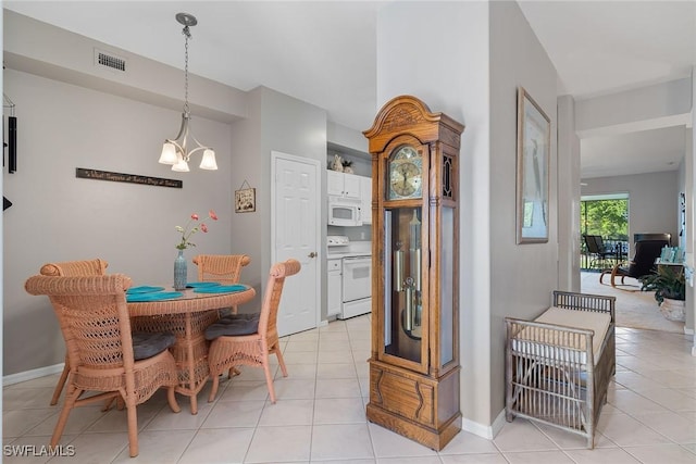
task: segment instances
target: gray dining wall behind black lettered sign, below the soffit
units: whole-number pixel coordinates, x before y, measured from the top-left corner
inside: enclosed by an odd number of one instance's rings
[[[36,75],[4,71],[3,91],[16,104],[15,174],[3,174],[3,364],[13,374],[63,361],[64,343],[46,298],[24,291],[47,262],[102,258],[109,272],[136,285],[172,280],[174,226],[209,209],[220,220],[199,233],[198,253],[229,252],[235,220],[229,198],[229,126],[196,117],[196,136],[213,146],[219,171],[174,173],[157,160],[181,113]],[[182,179],[182,189],[75,177],[76,167]],[[189,265],[189,276],[195,276]]]

